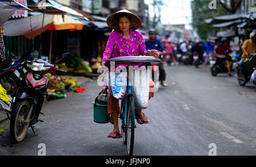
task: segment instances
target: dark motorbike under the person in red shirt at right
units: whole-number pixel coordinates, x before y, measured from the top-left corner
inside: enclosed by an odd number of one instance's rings
[[[232,65],[230,66],[230,69],[232,69]],[[228,68],[226,68],[225,59],[217,56],[211,59],[210,72],[214,77],[216,77],[218,73],[228,73]]]

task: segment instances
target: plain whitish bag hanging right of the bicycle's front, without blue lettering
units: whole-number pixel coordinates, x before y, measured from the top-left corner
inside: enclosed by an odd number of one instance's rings
[[[150,91],[150,74],[147,70],[134,70],[133,93],[135,97],[135,108],[146,109],[148,107]]]

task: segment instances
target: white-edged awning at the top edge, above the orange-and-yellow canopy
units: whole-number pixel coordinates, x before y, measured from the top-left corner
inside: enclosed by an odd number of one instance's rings
[[[27,6],[30,7],[33,11],[43,12],[45,14],[72,14],[80,17],[84,17],[79,12],[71,9],[70,7],[61,5],[56,1],[47,0],[47,1],[38,1],[38,0],[28,0]]]

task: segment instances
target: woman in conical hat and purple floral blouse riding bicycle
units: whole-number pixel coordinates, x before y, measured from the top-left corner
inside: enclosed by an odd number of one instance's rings
[[[159,57],[156,50],[146,51],[146,45],[140,32],[135,31],[141,27],[141,19],[130,11],[121,10],[110,15],[107,19],[108,26],[114,31],[110,34],[106,44],[104,56],[101,65],[105,66],[107,59],[113,59],[121,56],[155,56]],[[106,78],[105,78],[106,80]],[[104,84],[102,91],[106,92],[108,86]],[[150,85],[154,85],[151,81]],[[150,98],[152,94],[150,94]],[[114,130],[109,133],[108,137],[119,138],[121,133],[118,127],[119,100],[109,94],[108,113],[111,114],[110,123],[114,124]],[[148,123],[149,119],[142,110],[135,110],[137,122],[139,124]]]

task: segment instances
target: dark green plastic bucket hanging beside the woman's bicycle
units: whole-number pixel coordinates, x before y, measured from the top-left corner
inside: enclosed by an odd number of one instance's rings
[[[98,105],[93,102],[93,118],[96,123],[109,123],[108,105]]]

